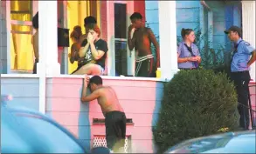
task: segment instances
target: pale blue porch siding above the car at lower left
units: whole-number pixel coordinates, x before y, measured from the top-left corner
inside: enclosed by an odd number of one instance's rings
[[[1,77],[1,95],[10,94],[10,106],[21,106],[39,110],[39,79]]]

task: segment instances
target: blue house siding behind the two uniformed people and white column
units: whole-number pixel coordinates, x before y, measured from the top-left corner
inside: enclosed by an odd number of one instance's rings
[[[146,1],[145,3],[146,21],[156,36],[159,36],[158,2]],[[231,25],[241,26],[241,8],[234,4],[225,5],[225,3],[218,1],[206,1],[206,3],[213,13],[212,36],[208,37],[211,37],[212,47],[218,49],[219,46],[229,43],[224,30]],[[200,12],[203,15],[200,16]],[[204,7],[202,8],[199,1],[176,1],[177,37],[181,37],[182,28],[203,29],[204,33],[207,34],[209,31],[208,22],[208,10],[204,9]],[[208,38],[207,36],[205,37]]]

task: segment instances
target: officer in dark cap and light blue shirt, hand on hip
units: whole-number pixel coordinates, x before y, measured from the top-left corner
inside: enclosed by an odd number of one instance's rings
[[[225,30],[230,40],[234,43],[235,49],[232,52],[231,79],[235,84],[238,94],[238,110],[240,115],[239,125],[245,130],[249,129],[248,94],[249,82],[251,80],[250,65],[256,60],[256,50],[253,46],[241,38],[242,30],[232,26]],[[252,34],[255,35],[255,34]]]

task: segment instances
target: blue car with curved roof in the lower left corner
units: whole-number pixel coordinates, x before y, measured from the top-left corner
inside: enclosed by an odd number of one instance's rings
[[[51,118],[34,110],[10,108],[10,98],[1,96],[1,152],[88,153],[73,134]]]

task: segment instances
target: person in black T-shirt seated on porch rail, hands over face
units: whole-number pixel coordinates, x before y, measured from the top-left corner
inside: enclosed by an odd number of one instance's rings
[[[81,45],[79,53],[80,57],[84,57],[85,65],[73,74],[102,75],[107,57],[107,42],[100,39],[100,28],[97,24],[89,24],[87,30],[87,39]]]

